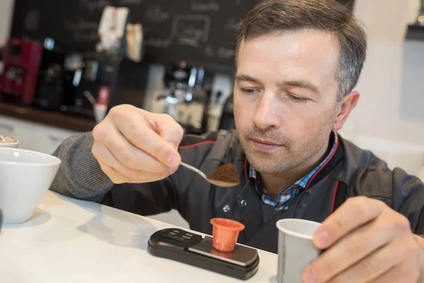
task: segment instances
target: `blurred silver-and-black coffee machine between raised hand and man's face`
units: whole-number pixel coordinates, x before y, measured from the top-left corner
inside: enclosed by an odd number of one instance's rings
[[[207,109],[213,74],[187,62],[165,70],[163,93],[155,99],[155,112],[173,117],[187,134],[201,134],[207,128]]]

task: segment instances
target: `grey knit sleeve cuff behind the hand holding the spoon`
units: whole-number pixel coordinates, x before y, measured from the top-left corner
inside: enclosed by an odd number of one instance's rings
[[[54,151],[61,166],[50,190],[80,200],[102,201],[113,183],[91,154],[93,142],[91,132],[76,134]]]

